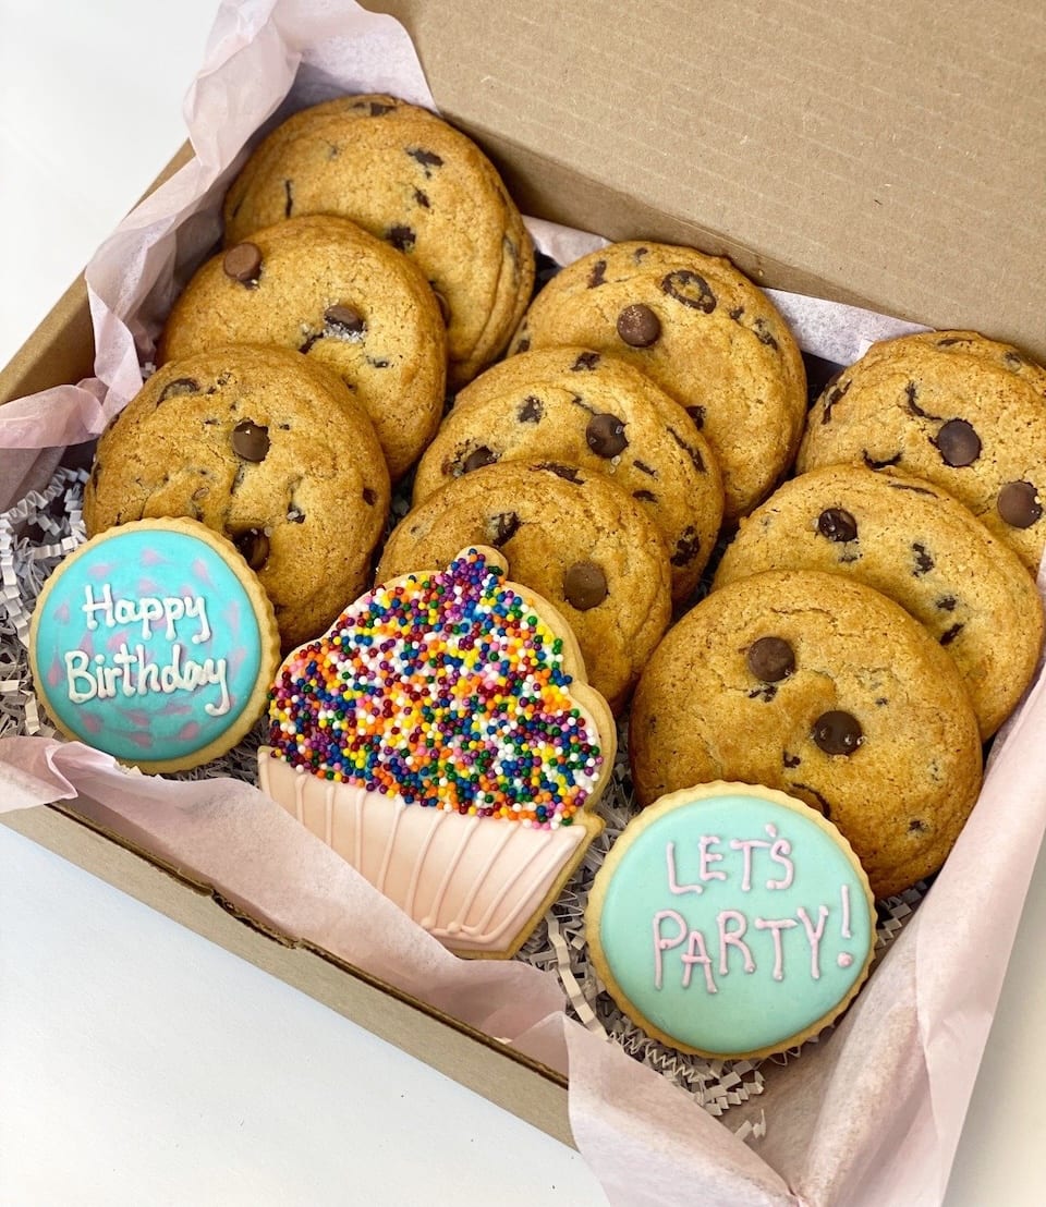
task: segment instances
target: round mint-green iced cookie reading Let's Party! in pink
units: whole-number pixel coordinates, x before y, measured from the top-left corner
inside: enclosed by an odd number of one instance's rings
[[[634,817],[595,876],[592,962],[647,1034],[719,1060],[813,1038],[856,996],[876,915],[847,840],[794,797],[704,783]]]

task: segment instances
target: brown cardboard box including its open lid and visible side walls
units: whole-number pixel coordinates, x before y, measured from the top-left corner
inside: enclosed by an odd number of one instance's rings
[[[964,6],[925,0],[903,18],[824,4],[817,34],[809,10],[368,7],[403,22],[442,112],[487,148],[525,212],[691,243],[766,285],[974,327],[1046,358],[1046,256],[1028,238],[1046,216],[1046,113],[1022,92],[1030,2],[976,41],[963,36]],[[993,53],[1003,43],[1009,57]],[[87,377],[91,363],[77,282],[0,374],[0,400]],[[571,1142],[565,1079],[550,1067],[290,944],[72,809],[0,820]]]

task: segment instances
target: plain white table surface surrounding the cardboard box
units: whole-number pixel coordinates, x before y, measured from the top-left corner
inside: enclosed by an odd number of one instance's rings
[[[215,6],[0,0],[0,363],[180,145]],[[1046,1201],[1044,926],[1040,859],[947,1207]],[[606,1201],[571,1149],[0,827],[0,1203],[492,1197]]]

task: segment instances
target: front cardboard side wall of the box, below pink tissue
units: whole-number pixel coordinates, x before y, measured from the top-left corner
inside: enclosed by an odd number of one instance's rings
[[[209,885],[87,822],[72,809],[27,809],[4,814],[0,823],[307,993],[540,1131],[574,1145],[566,1080],[554,1069],[314,944],[260,925]]]

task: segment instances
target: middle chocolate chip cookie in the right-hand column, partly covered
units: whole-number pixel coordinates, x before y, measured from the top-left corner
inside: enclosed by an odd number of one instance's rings
[[[786,482],[742,520],[714,585],[763,570],[848,575],[896,600],[955,660],[982,737],[1035,671],[1042,604],[1021,559],[917,478],[839,465]]]

